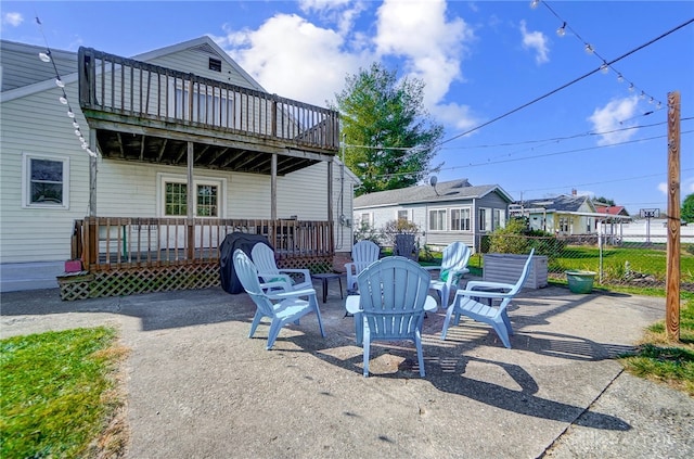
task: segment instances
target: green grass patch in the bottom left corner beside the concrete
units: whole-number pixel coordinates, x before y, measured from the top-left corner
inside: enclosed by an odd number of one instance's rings
[[[116,370],[126,355],[106,327],[0,341],[0,457],[121,454]]]

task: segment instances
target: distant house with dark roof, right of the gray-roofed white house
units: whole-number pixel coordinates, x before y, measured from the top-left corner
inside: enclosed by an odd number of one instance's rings
[[[530,229],[561,235],[595,234],[601,219],[590,196],[577,194],[518,201],[509,207],[509,215],[526,217]]]

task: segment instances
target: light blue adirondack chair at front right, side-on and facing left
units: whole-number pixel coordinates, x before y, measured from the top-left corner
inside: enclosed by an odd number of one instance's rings
[[[455,292],[453,303],[448,307],[446,311],[446,319],[444,320],[444,330],[441,331],[441,340],[446,340],[446,332],[450,326],[451,316],[455,315],[453,322],[458,324],[461,314],[467,316],[473,320],[490,324],[504,346],[511,348],[510,335],[513,334],[513,328],[509,320],[506,307],[511,303],[511,299],[520,291],[523,284],[528,278],[530,272],[530,260],[535,254],[535,248],[530,251],[528,259],[523,267],[520,277],[516,283],[502,283],[502,282],[486,282],[486,281],[470,281],[465,285],[465,290],[459,290]],[[484,304],[481,301],[487,299],[489,304]],[[499,306],[494,306],[492,303],[500,301]]]

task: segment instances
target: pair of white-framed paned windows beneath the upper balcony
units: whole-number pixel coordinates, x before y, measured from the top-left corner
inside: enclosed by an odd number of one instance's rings
[[[162,215],[184,217],[188,215],[188,183],[178,176],[159,175],[162,189]],[[193,215],[195,217],[220,217],[226,181],[214,178],[196,178]]]

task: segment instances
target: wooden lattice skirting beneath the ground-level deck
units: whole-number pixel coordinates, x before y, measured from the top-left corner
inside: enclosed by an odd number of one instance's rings
[[[287,258],[282,268],[306,268],[311,272],[331,272],[331,257]],[[220,285],[219,265],[180,265],[99,272],[79,272],[57,278],[61,299],[86,299],[125,296],[136,293],[195,290]]]

